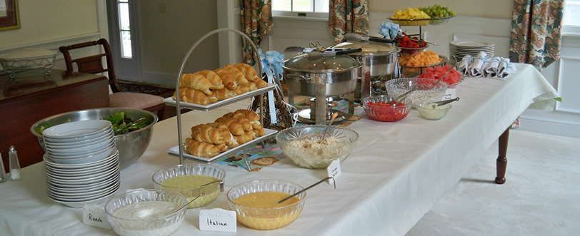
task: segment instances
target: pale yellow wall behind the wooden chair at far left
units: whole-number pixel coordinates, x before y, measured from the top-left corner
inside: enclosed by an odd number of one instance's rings
[[[0,53],[23,48],[58,51],[59,46],[91,41],[106,36],[99,16],[101,5],[92,1],[26,1],[20,0],[20,29],[0,31]],[[104,1],[102,2],[104,3]],[[65,68],[62,56],[55,68]]]

